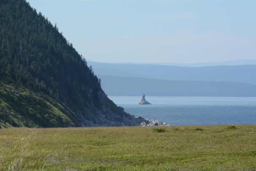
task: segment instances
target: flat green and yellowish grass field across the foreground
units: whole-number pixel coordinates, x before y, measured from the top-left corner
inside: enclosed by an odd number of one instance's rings
[[[256,170],[256,125],[0,129],[0,170]]]

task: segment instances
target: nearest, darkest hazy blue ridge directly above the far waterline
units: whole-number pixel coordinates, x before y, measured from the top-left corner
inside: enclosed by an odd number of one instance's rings
[[[256,97],[256,85],[241,82],[171,81],[98,75],[108,96]]]

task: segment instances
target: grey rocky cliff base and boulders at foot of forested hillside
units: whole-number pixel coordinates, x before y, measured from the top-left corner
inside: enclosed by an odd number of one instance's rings
[[[76,122],[82,127],[120,127],[120,126],[160,126],[167,125],[165,122],[148,120],[141,116],[134,116],[124,112],[123,107],[111,109],[111,102],[103,91],[98,93],[101,110],[93,103],[85,105],[85,111],[76,112]],[[113,102],[112,102],[113,103]],[[114,103],[113,103],[114,104]],[[112,104],[112,105],[113,105]],[[115,105],[115,104],[114,104]]]

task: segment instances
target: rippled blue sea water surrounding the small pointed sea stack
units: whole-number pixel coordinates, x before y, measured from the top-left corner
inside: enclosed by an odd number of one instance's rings
[[[135,116],[170,125],[256,124],[255,97],[109,97]]]

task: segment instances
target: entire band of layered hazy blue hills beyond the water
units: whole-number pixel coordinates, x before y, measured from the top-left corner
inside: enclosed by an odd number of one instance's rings
[[[191,64],[216,65],[200,67],[93,61],[88,65],[110,96],[256,97],[256,65],[243,65],[255,61]]]

